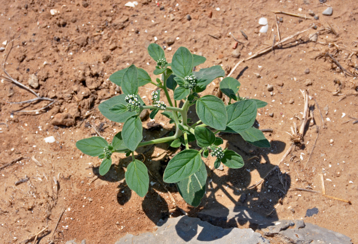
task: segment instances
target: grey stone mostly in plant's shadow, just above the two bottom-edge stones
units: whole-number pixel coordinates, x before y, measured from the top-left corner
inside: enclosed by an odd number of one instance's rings
[[[274,221],[251,211],[245,206],[204,209],[198,213],[198,218],[217,226],[226,225],[227,222],[231,222],[232,220],[237,222],[246,221],[250,224],[257,224],[259,228],[274,225]]]

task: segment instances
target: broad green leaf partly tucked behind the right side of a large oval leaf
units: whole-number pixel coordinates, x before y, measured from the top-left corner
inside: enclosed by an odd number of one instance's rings
[[[250,128],[256,119],[257,105],[255,101],[243,100],[226,106],[228,114],[224,132],[241,133]]]

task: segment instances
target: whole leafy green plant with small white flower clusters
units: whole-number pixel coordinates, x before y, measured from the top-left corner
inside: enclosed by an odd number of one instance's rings
[[[117,71],[110,76],[110,80],[121,86],[123,94],[115,96],[101,103],[98,109],[108,119],[124,123],[122,131],[117,133],[112,143],[101,137],[91,137],[77,141],[76,146],[84,154],[98,156],[103,159],[99,173],[104,175],[111,167],[112,153],[132,154],[132,162],[127,166],[125,173],[126,183],[130,189],[139,196],[144,197],[149,187],[149,175],[145,164],[134,158],[134,151],[145,145],[157,143],[170,143],[178,148],[185,149],[176,154],[168,163],[163,180],[166,183],[176,183],[180,195],[193,206],[198,206],[205,193],[207,171],[202,156],[207,158],[209,152],[216,157],[214,167],[217,169],[221,163],[229,168],[241,168],[244,165],[242,157],[235,151],[222,149],[223,140],[216,136],[220,131],[238,133],[244,140],[258,147],[270,147],[263,133],[252,127],[257,114],[257,108],[267,103],[256,99],[244,99],[238,95],[240,83],[231,77],[220,82],[223,94],[229,97],[229,104],[213,95],[200,96],[214,79],[225,75],[221,66],[203,68],[193,71],[193,67],[205,62],[203,56],[191,54],[187,48],[180,47],[171,63],[165,59],[164,50],[157,44],[150,44],[149,55],[157,62],[155,75],[161,74],[161,80],[153,82],[144,69],[131,65],[126,69]],[[170,67],[170,68],[168,68]],[[153,91],[152,104],[145,105],[138,88],[151,83],[159,89]],[[169,96],[168,89],[174,91],[174,104]],[[168,105],[160,101],[160,91],[164,91]],[[179,108],[178,101],[184,99]],[[234,103],[231,101],[234,100]],[[200,120],[192,123],[187,116],[190,106],[195,105]],[[171,135],[142,141],[142,122],[139,114],[142,110],[151,110],[153,119],[159,111],[175,124],[175,132]],[[208,127],[212,128],[209,129]],[[195,141],[200,150],[190,149],[189,142]]]

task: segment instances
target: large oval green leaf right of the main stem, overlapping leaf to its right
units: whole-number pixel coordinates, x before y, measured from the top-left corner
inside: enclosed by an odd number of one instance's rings
[[[224,102],[213,95],[202,96],[196,103],[197,115],[204,124],[217,130],[226,128],[227,114]]]

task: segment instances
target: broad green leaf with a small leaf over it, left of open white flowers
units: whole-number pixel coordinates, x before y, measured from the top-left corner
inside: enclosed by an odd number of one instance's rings
[[[116,104],[127,105],[127,103],[125,101],[125,97],[126,97],[126,94],[121,94],[121,95],[115,96],[113,98],[110,98],[110,99],[104,101],[103,103],[101,103],[98,106],[98,109],[100,110],[101,114],[103,114],[103,116],[105,116],[107,119],[114,121],[114,122],[123,123],[129,117],[136,115],[137,113],[127,111],[123,114],[115,114],[112,111],[110,111],[110,108],[112,108],[112,106],[114,106]],[[145,105],[143,100],[139,96],[138,96],[138,99],[140,100],[141,105]]]

